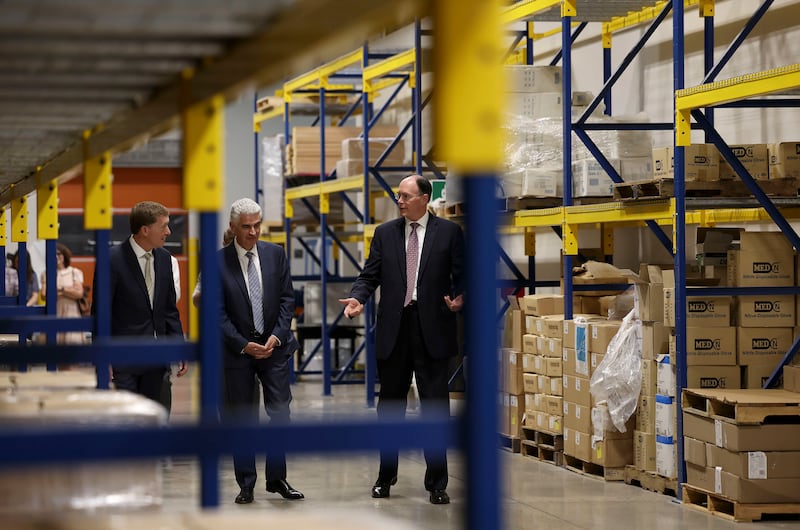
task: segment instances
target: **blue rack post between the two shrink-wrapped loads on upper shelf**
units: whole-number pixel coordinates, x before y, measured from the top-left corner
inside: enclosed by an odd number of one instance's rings
[[[563,194],[564,206],[572,206],[572,44],[570,28],[572,17],[561,18],[561,64],[563,138]],[[572,256],[564,253],[564,319],[572,318]]]

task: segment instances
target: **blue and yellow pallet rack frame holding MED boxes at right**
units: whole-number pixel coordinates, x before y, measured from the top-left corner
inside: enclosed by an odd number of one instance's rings
[[[565,318],[572,317],[572,294],[574,291],[571,281],[572,259],[571,256],[577,254],[577,231],[582,225],[599,226],[603,231],[604,248],[613,244],[613,237],[608,231],[609,226],[648,226],[662,242],[662,244],[674,255],[675,283],[676,283],[676,345],[677,345],[677,392],[680,395],[686,386],[686,256],[685,256],[685,227],[687,224],[697,224],[700,226],[715,226],[718,223],[745,223],[753,221],[773,221],[779,229],[787,236],[792,246],[797,251],[800,249],[800,239],[790,226],[787,219],[797,218],[797,201],[793,199],[771,200],[760,189],[758,184],[747,173],[741,163],[732,154],[730,148],[725,144],[720,135],[713,127],[713,109],[720,107],[737,106],[798,106],[800,100],[797,98],[783,98],[770,100],[752,100],[751,98],[769,94],[785,94],[800,86],[800,65],[792,65],[767,72],[741,76],[721,82],[714,82],[724,65],[731,59],[733,54],[745,40],[753,27],[764,16],[765,12],[773,3],[767,0],[755,11],[754,15],[748,20],[738,35],[733,39],[731,45],[723,56],[714,63],[713,50],[713,16],[715,4],[713,0],[686,0],[685,2],[655,2],[654,5],[642,7],[643,2],[629,2],[628,5],[621,6],[623,9],[630,8],[632,12],[622,16],[609,17],[610,12],[606,6],[600,3],[592,5],[589,2],[579,0],[566,1],[541,1],[519,3],[507,9],[507,21],[518,19],[533,20],[555,20],[559,16],[562,21],[562,54],[565,72],[570,71],[571,51],[569,39],[569,28],[574,20],[595,20],[604,21],[602,31],[602,42],[604,48],[604,87],[600,94],[590,104],[587,111],[576,122],[571,119],[571,87],[570,74],[564,75],[564,205],[559,208],[545,210],[527,210],[515,214],[515,224],[525,227],[526,230],[536,227],[555,227],[560,226],[563,233],[564,249],[564,293],[565,293]],[[626,4],[625,2],[615,2],[608,7],[619,7],[616,4]],[[686,7],[697,5],[700,15],[705,19],[705,71],[706,77],[704,84],[689,89],[684,88],[684,11]],[[560,7],[560,12],[558,12]],[[673,11],[673,66],[674,66],[674,89],[675,89],[675,108],[676,118],[674,123],[660,124],[624,124],[616,125],[614,128],[625,129],[652,129],[652,130],[672,130],[676,131],[675,141],[675,197],[669,200],[647,201],[642,204],[631,204],[622,202],[612,202],[590,206],[572,205],[572,178],[571,178],[571,134],[576,135],[583,141],[592,155],[604,167],[608,175],[614,182],[622,182],[622,179],[610,166],[607,159],[603,156],[596,145],[587,135],[587,131],[600,130],[608,127],[598,127],[586,123],[586,119],[596,108],[600,100],[606,104],[606,112],[610,114],[610,91],[614,81],[619,78],[622,71],[630,63],[630,60],[643,47],[644,42],[658,24],[665,20],[670,10]],[[610,72],[610,46],[611,35],[615,31],[625,29],[629,26],[650,22],[650,27],[645,31],[642,39],[634,46],[616,73]],[[701,113],[699,109],[704,109]],[[697,123],[691,123],[691,118]],[[685,176],[684,176],[684,152],[683,147],[690,144],[690,132],[693,128],[702,128],[706,133],[709,142],[714,143],[722,153],[725,160],[731,164],[736,173],[741,177],[747,188],[751,191],[755,200],[731,200],[731,201],[689,201],[685,199]],[[672,238],[663,232],[661,226],[672,226]],[[608,249],[607,249],[607,253]],[[692,288],[692,294],[711,295],[736,295],[736,294],[758,294],[769,292],[772,294],[797,294],[800,289],[792,288]],[[800,337],[795,338],[791,348],[787,351],[782,363],[775,369],[770,380],[765,386],[769,387],[776,382],[782,367],[800,349]],[[683,425],[681,414],[678,414],[678,482],[685,480],[685,467],[683,465]]]

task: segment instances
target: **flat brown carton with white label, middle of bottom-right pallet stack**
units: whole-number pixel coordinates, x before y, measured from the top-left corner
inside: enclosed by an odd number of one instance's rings
[[[706,443],[707,466],[749,480],[800,477],[798,451],[733,452]]]

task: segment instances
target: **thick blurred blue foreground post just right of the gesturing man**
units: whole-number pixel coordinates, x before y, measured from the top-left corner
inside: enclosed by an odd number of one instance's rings
[[[485,530],[502,528],[500,456],[497,450],[497,212],[494,175],[465,175],[466,285],[464,345],[467,361],[467,524]]]

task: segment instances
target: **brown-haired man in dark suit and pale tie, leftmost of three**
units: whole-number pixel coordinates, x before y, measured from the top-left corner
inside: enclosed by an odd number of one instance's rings
[[[169,211],[157,202],[140,202],[131,209],[130,225],[131,237],[109,251],[111,334],[154,340],[183,337],[171,255],[162,248],[171,233]],[[182,362],[178,377],[187,369]],[[161,388],[169,370],[169,364],[114,366],[114,386],[161,402]]]

